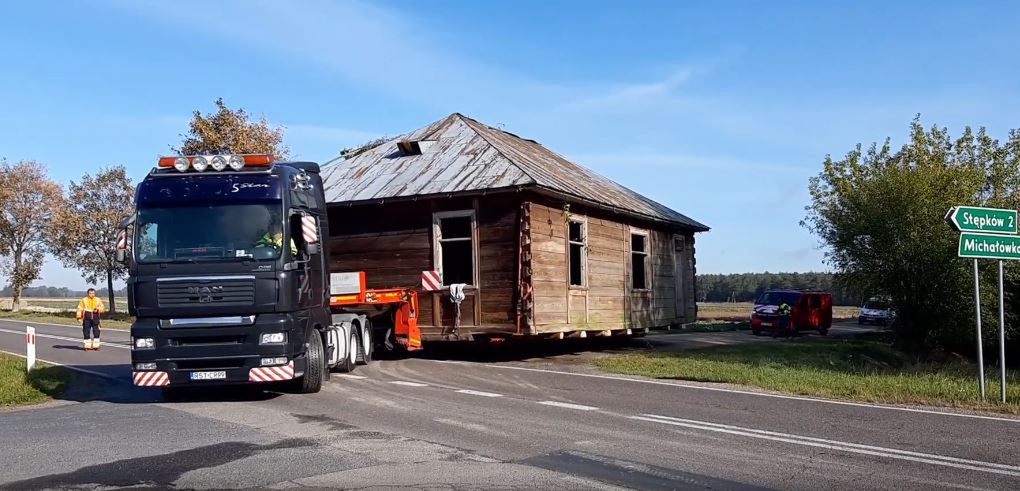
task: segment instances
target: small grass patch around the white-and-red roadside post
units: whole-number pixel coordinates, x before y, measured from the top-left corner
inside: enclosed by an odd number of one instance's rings
[[[63,393],[70,384],[70,371],[36,362],[30,374],[24,359],[0,353],[0,407],[45,402]]]

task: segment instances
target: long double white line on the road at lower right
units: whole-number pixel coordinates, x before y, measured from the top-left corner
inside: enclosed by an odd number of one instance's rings
[[[837,440],[825,440],[822,438],[804,437],[800,435],[790,435],[787,433],[755,430],[751,428],[742,428],[731,425],[720,425],[717,423],[700,422],[696,420],[682,420],[679,418],[662,416],[657,414],[642,414],[636,416],[630,416],[630,419],[650,422],[650,423],[659,423],[663,425],[691,428],[695,430],[725,433],[729,435],[738,435],[750,438],[792,443],[795,445],[827,448],[830,450],[839,450],[849,453],[859,453],[864,455],[872,455],[872,456],[879,456],[886,458],[898,458],[901,460],[910,460],[914,462],[930,463],[934,465],[965,469],[968,471],[978,471],[983,473],[1001,474],[1004,476],[1020,477],[1020,467],[1008,465],[1004,463],[969,460],[965,458],[950,457],[946,455],[937,455],[932,453],[912,452],[907,450],[899,450],[896,448],[861,445],[858,443],[840,442]]]

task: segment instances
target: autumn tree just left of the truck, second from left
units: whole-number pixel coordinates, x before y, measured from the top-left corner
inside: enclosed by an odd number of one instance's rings
[[[132,212],[135,187],[123,166],[105,168],[94,177],[86,174],[80,184],[67,186],[53,216],[49,241],[53,254],[67,267],[82,272],[89,283],[106,279],[110,311],[116,311],[113,281],[128,274],[116,261],[120,222]]]

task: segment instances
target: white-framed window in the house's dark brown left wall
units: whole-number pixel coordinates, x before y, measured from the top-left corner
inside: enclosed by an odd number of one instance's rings
[[[443,284],[474,284],[474,212],[442,211],[435,215],[436,267]]]

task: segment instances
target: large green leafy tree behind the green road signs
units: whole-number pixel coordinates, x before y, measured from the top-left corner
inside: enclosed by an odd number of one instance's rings
[[[958,236],[942,218],[954,205],[1015,206],[1017,171],[1006,155],[983,130],[954,142],[918,117],[899,151],[887,140],[858,145],[840,160],[826,157],[811,180],[803,225],[856,291],[892,297],[900,347],[970,351],[970,262],[957,257]]]

